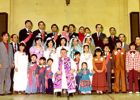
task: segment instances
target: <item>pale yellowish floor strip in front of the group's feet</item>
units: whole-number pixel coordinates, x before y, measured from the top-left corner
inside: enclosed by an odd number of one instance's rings
[[[9,95],[0,96],[0,100],[140,100],[140,94],[75,95],[70,98],[44,94]]]

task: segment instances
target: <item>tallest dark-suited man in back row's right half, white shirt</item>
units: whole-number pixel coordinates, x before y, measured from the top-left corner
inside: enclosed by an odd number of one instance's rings
[[[96,33],[92,34],[92,38],[94,40],[95,46],[103,47],[103,39],[106,37],[103,31],[103,26],[101,24],[97,24],[95,26]]]

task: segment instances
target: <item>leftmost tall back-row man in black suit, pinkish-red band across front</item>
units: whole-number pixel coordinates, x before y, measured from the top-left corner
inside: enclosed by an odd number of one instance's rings
[[[26,52],[29,54],[29,49],[33,44],[33,36],[32,36],[32,27],[33,24],[31,20],[25,21],[25,28],[21,29],[19,32],[19,42],[23,42],[26,44]]]

